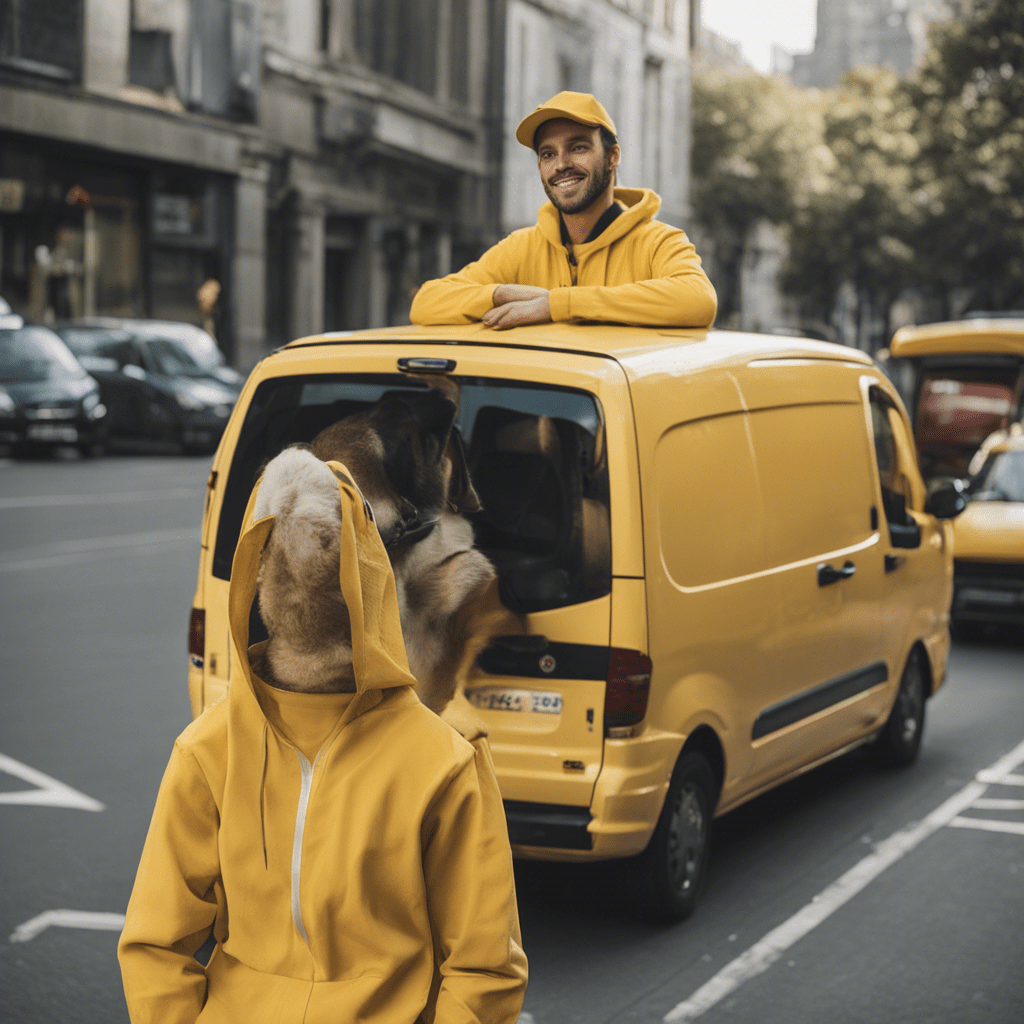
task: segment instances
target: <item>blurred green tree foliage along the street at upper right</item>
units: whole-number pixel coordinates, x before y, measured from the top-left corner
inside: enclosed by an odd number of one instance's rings
[[[808,317],[827,319],[844,283],[865,323],[884,324],[905,288],[947,315],[954,294],[1024,308],[1024,0],[955,0],[953,15],[906,81],[694,82],[693,203],[723,317],[761,218],[787,228],[783,286]]]

